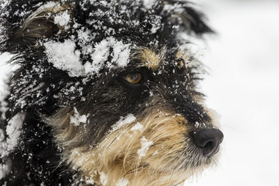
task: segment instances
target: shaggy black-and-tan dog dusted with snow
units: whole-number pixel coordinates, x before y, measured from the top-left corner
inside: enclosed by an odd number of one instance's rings
[[[213,33],[180,0],[10,0],[0,52],[1,185],[179,185],[223,133],[189,38]]]

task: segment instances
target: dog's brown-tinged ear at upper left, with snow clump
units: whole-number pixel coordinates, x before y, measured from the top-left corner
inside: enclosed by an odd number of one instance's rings
[[[70,24],[69,3],[52,1],[52,3],[37,2],[40,6],[37,4],[20,6],[21,2],[11,1],[1,10],[0,52],[17,54],[29,48],[38,48],[41,39],[51,38],[59,31],[65,32],[66,26]],[[7,13],[4,12],[5,10]],[[67,25],[66,19],[68,19]]]

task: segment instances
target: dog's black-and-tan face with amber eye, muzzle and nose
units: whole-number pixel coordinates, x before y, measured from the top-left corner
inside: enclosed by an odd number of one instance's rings
[[[145,60],[107,72],[88,87],[86,102],[74,111],[61,109],[48,122],[64,157],[88,178],[98,170],[112,183],[122,177],[133,185],[177,183],[209,166],[218,153],[223,138],[218,130],[210,137],[216,139],[201,146],[193,136],[216,126],[191,88],[191,63],[179,58],[150,68]],[[87,116],[86,123],[71,123],[76,114]]]

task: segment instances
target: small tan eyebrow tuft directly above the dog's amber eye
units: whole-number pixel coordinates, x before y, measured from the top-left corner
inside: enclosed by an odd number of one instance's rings
[[[165,52],[166,47],[163,47],[159,53],[156,53],[154,49],[140,48],[131,55],[131,58],[140,60],[142,65],[146,66],[147,68],[157,70],[160,63],[165,58]]]

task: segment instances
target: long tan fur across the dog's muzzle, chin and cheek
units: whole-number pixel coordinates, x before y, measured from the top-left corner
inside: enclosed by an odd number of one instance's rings
[[[185,180],[192,174],[185,173],[181,164],[184,158],[181,151],[188,132],[186,119],[168,111],[158,112],[155,108],[144,113],[148,114],[107,134],[98,146],[91,148],[71,145],[82,138],[84,131],[70,124],[70,109],[61,109],[48,123],[54,126],[56,140],[64,148],[65,160],[82,171],[86,180],[95,180],[101,185],[100,173],[109,178],[108,185],[114,185],[121,178],[129,180],[129,185],[174,185]],[[143,129],[131,131],[137,122]],[[142,137],[153,141],[153,145],[140,157]]]

